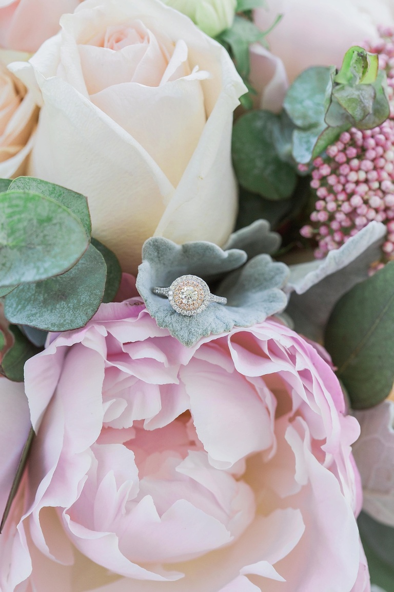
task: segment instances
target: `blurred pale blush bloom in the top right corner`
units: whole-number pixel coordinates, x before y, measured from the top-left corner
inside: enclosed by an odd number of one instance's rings
[[[254,11],[261,30],[282,20],[268,35],[269,47],[284,62],[289,81],[310,66],[340,66],[354,44],[377,38],[377,25],[394,24],[393,0],[266,0]]]

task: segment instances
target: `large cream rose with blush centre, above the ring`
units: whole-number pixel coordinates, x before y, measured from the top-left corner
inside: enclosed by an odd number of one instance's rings
[[[30,174],[87,195],[93,235],[136,271],[152,235],[226,242],[237,210],[229,55],[158,0],[85,0],[30,63]]]

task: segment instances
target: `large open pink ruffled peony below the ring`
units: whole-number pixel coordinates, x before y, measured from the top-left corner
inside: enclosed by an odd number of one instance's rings
[[[359,425],[282,324],[185,348],[136,299],[103,304],[25,391],[38,436],[2,592],[370,590]]]

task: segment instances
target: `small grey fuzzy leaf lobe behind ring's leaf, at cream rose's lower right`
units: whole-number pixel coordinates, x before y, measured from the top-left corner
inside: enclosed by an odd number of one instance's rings
[[[275,253],[281,246],[281,240],[280,234],[271,231],[268,221],[256,220],[231,234],[223,250],[242,249],[252,259],[261,253]]]

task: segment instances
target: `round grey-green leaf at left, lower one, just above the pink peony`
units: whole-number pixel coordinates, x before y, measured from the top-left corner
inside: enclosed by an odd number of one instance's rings
[[[66,274],[15,288],[5,298],[5,316],[44,331],[79,329],[99,308],[105,281],[105,260],[91,244]]]

